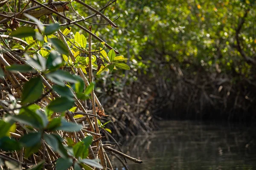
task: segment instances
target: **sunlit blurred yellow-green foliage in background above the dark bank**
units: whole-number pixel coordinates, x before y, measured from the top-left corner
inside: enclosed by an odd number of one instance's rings
[[[99,7],[104,3],[91,5]],[[118,1],[105,15],[112,20],[120,17],[115,21],[119,28],[95,25],[93,31],[125,57],[129,50],[133,76],[150,75],[148,70],[167,63],[190,71],[201,65],[212,72],[217,64],[223,73],[235,71],[252,79],[251,64],[236,48],[236,29],[246,11],[239,39],[244,52],[253,58],[256,55],[253,0]],[[87,11],[81,8],[79,14],[84,12]],[[100,17],[90,21],[103,23]]]

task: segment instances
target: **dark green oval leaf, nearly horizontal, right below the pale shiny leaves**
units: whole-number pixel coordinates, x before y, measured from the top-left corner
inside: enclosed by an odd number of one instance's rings
[[[60,97],[53,100],[49,105],[48,109],[51,109],[55,112],[63,112],[67,111],[68,109],[72,108],[75,101],[73,99],[67,97]]]

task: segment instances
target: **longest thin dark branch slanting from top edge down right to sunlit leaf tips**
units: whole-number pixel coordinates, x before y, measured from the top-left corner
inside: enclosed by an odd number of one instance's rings
[[[67,20],[69,23],[72,22],[73,20],[71,20],[70,18],[65,17],[64,15],[60,14],[59,12],[54,11],[52,8],[49,8],[47,6],[45,6],[44,4],[41,4],[39,2],[37,2],[36,0],[32,0],[33,2],[37,3],[38,5],[48,9],[49,11],[52,11],[52,13],[57,14],[58,16],[64,18],[65,20]],[[88,29],[84,28],[83,26],[79,25],[78,23],[74,23],[75,26],[78,26],[79,28],[81,28],[82,30],[86,31],[88,34],[91,34],[94,38],[96,38],[97,40],[99,40],[100,42],[104,42],[100,37],[96,36],[95,34],[93,34],[92,32],[90,32]],[[108,47],[109,49],[113,49],[115,51],[116,54],[119,54],[118,51],[116,51],[114,48],[112,48],[110,45],[108,45],[105,42],[105,46]]]

